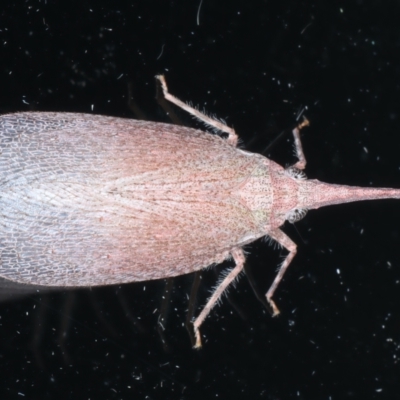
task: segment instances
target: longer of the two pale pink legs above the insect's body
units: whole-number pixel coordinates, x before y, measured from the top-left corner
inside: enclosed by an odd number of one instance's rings
[[[189,106],[188,104],[184,103],[183,101],[177,99],[175,96],[170,94],[168,92],[168,87],[167,87],[167,82],[165,81],[164,75],[157,75],[156,79],[159,81],[161,85],[161,89],[163,91],[164,97],[170,101],[171,103],[175,104],[179,108],[182,108],[182,110],[185,110],[189,114],[193,115],[195,118],[198,120],[202,121],[208,126],[211,126],[212,128],[218,129],[224,133],[228,134],[228,143],[230,143],[232,146],[236,147],[237,141],[238,141],[238,136],[235,132],[234,129],[230,128],[229,126],[225,125],[223,122],[218,121],[214,118],[210,118],[207,115],[203,114],[199,110],[196,110],[195,108]]]

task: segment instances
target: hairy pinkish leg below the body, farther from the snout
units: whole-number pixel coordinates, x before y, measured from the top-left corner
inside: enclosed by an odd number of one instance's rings
[[[201,336],[200,336],[200,326],[206,319],[207,315],[210,313],[211,309],[214,307],[215,303],[218,302],[224,290],[235,280],[235,278],[240,274],[243,270],[243,266],[245,263],[245,256],[243,254],[243,250],[241,248],[236,248],[231,251],[232,257],[235,261],[235,268],[229,272],[229,274],[223,279],[223,281],[218,285],[215,289],[214,293],[208,299],[207,304],[204,306],[203,310],[199,314],[199,316],[193,322],[194,335],[196,338],[196,344],[194,347],[196,349],[201,347]]]

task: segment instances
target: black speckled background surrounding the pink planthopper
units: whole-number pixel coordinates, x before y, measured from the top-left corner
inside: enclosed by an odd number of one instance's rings
[[[167,121],[154,75],[262,152],[305,114],[307,174],[400,186],[400,7],[394,1],[14,1],[0,11],[0,109]],[[182,114],[188,124],[190,117]],[[288,135],[267,155],[294,161]],[[1,398],[392,399],[400,389],[400,204],[354,203],[285,227],[299,245],[271,318],[245,276],[191,349],[192,276],[40,292],[0,304]],[[207,228],[206,228],[207,229]],[[265,292],[281,260],[246,249]],[[198,304],[215,284],[207,271]],[[125,308],[124,308],[125,307]],[[198,311],[197,311],[198,313]],[[24,396],[24,397],[23,397]]]

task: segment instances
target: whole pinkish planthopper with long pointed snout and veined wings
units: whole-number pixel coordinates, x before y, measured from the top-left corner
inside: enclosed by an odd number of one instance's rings
[[[0,276],[25,284],[95,286],[168,278],[232,257],[194,320],[199,328],[242,271],[243,246],[269,236],[288,254],[266,298],[296,254],[279,228],[306,211],[400,190],[308,180],[299,161],[283,168],[236,147],[232,128],[172,96],[165,99],[216,134],[173,124],[89,114],[0,116]],[[306,124],[303,123],[303,125]]]

